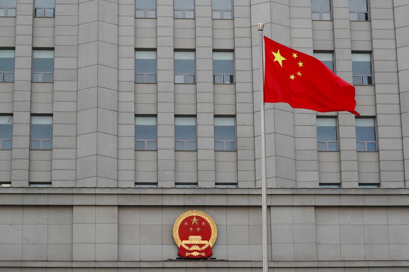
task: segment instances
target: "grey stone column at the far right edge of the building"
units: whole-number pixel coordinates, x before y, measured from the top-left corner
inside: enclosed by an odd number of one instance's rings
[[[409,55],[409,40],[407,39],[407,33],[409,33],[409,21],[406,17],[409,12],[409,3],[394,0],[393,5],[403,137],[404,181],[405,187],[409,187],[409,123],[407,122],[407,120],[409,120],[409,63],[405,61]],[[391,52],[390,54],[393,53]]]

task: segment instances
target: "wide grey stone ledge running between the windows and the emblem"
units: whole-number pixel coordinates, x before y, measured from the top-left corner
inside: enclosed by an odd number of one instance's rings
[[[0,188],[0,205],[261,206],[257,188]],[[409,188],[267,190],[269,206],[409,206]]]

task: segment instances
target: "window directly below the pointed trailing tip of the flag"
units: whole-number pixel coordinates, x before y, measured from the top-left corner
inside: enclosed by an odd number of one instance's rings
[[[376,151],[375,119],[355,118],[356,151]]]

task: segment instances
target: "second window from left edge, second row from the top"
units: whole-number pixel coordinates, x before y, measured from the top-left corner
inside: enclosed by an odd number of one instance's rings
[[[54,50],[33,51],[33,82],[54,81]]]

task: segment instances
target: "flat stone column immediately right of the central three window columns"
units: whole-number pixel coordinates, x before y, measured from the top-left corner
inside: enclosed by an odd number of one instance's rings
[[[255,187],[251,8],[234,0],[238,187]]]

